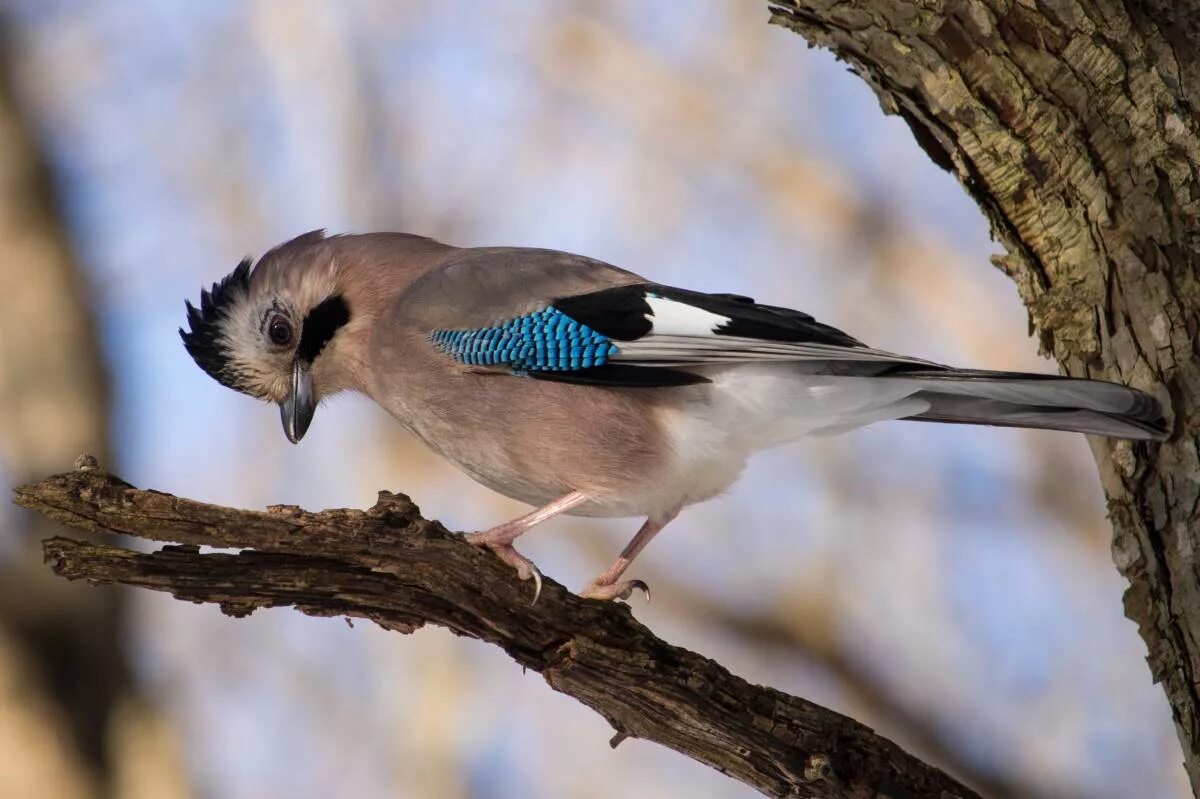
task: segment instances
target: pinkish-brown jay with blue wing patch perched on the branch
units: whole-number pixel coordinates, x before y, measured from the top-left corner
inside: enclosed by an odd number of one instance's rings
[[[649,595],[634,559],[746,459],[886,420],[1157,441],[1163,409],[1100,380],[954,368],[874,349],[740,294],[655,283],[554,250],[313,230],[185,302],[184,347],[278,405],[299,443],[358,391],[467,475],[535,510],[467,540],[534,581],[515,541],[560,513],[644,519],[584,597]]]

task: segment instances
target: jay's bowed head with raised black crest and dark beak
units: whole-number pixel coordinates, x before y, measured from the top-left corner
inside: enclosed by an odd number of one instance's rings
[[[280,245],[251,268],[242,260],[187,302],[179,330],[196,364],[235,391],[280,405],[299,441],[323,396],[344,388],[337,355],[352,310],[330,240],[319,230]]]

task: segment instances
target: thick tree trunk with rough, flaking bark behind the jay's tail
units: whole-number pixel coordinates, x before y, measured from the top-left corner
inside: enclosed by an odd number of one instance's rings
[[[1044,352],[1157,395],[1162,445],[1097,439],[1112,554],[1200,792],[1200,2],[770,1],[979,203]]]

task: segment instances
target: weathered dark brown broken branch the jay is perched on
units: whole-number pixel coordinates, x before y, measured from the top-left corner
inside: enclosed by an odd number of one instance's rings
[[[17,489],[17,501],[90,533],[174,541],[154,553],[53,537],[59,575],[216,602],[230,615],[289,605],[398,632],[425,624],[504,649],[557,691],[601,714],[613,743],[670,746],[773,797],[976,797],[871,729],[805,699],[751,685],[655,637],[629,608],[530,587],[487,552],[382,492],[368,511],[234,510],[139,491],[84,468]],[[199,546],[241,552],[202,553]]]

